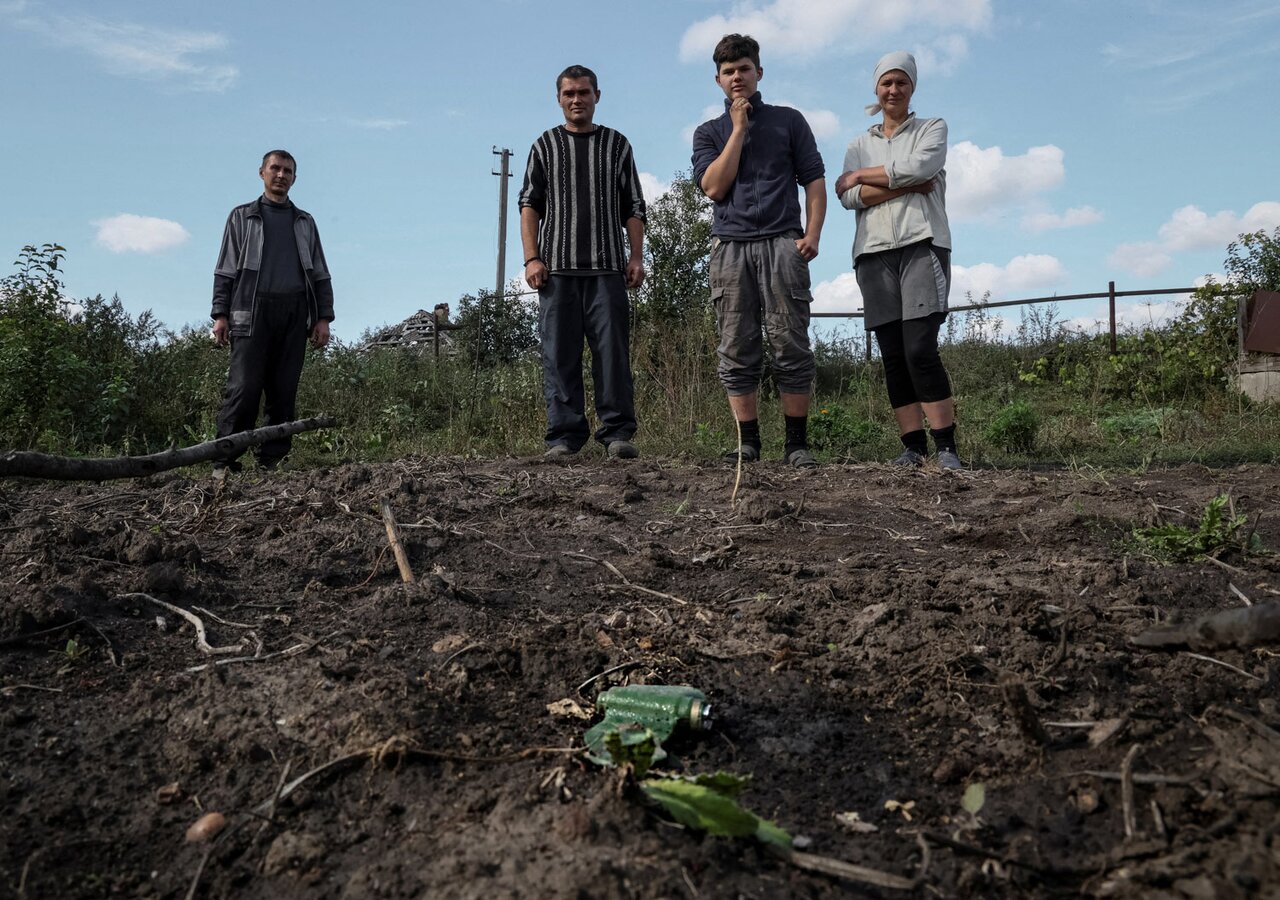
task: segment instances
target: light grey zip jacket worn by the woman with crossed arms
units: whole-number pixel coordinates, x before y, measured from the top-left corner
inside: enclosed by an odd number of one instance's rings
[[[896,250],[920,241],[951,250],[951,227],[947,224],[947,123],[942,119],[908,117],[893,137],[884,137],[882,124],[859,134],[845,152],[844,172],[883,165],[891,188],[923,184],[933,179],[932,193],[905,193],[883,204],[867,206],[863,186],[840,195],[847,210],[858,211],[854,237],[854,266],[864,253]]]

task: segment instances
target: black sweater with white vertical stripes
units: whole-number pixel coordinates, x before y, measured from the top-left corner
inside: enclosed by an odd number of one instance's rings
[[[626,221],[645,220],[631,145],[603,125],[544,132],[529,151],[520,207],[541,219],[538,248],[550,271],[625,271]]]

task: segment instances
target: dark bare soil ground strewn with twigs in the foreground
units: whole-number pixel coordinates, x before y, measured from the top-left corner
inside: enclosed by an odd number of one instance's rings
[[[1280,548],[1280,470],[764,462],[736,507],[733,479],[584,456],[0,484],[0,896],[1280,896],[1280,659],[1129,643],[1275,600],[1280,557],[1126,543],[1230,493]],[[548,711],[623,682],[709,695],[677,771],[750,775],[806,853],[916,886],[646,807]]]

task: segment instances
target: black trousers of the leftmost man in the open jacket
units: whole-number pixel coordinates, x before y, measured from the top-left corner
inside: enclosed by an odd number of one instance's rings
[[[306,348],[306,294],[259,294],[252,334],[232,338],[232,365],[218,414],[219,438],[252,429],[264,396],[264,425],[293,421]],[[268,440],[255,454],[264,466],[273,466],[292,446],[292,438]]]

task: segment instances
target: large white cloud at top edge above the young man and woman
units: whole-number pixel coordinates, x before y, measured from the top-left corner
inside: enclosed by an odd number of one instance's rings
[[[690,26],[680,41],[680,58],[685,63],[710,63],[716,42],[731,32],[750,35],[760,42],[762,56],[772,59],[774,55],[812,56],[815,50],[829,46],[841,50],[881,47],[892,35],[914,35],[924,29],[941,35],[975,32],[987,27],[991,15],[989,0],[748,0],[736,4],[730,15],[712,15]],[[947,59],[966,50],[964,44],[950,38],[942,40],[936,49],[925,47],[932,50],[933,59]],[[924,52],[920,50],[922,56]],[[870,93],[869,73],[867,81]]]

